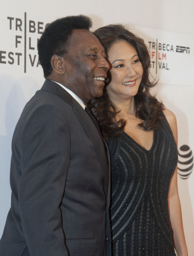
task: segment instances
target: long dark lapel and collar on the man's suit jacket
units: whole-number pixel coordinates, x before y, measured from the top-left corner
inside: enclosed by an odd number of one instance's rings
[[[108,184],[109,184],[109,170],[107,166],[107,162],[109,162],[109,151],[106,145],[106,149],[104,148],[103,141],[97,131],[96,126],[94,125],[92,119],[88,115],[88,113],[80,106],[80,104],[60,85],[51,81],[45,80],[41,90],[52,92],[66,101],[68,104],[73,106],[73,111],[80,120],[84,130],[86,131],[88,137],[90,138],[93,146],[95,148],[98,160],[100,162],[102,171],[104,173],[105,179],[105,193],[107,195]],[[106,150],[106,152],[105,152]],[[106,158],[107,155],[107,158]],[[108,160],[107,160],[108,159]],[[109,162],[110,163],[110,162]],[[108,164],[109,164],[108,163]]]

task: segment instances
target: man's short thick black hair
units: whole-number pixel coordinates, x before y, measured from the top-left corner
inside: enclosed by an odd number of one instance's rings
[[[52,73],[51,58],[54,54],[63,56],[69,36],[74,29],[89,30],[92,20],[85,15],[67,16],[49,24],[38,40],[39,62],[43,68],[44,77]]]

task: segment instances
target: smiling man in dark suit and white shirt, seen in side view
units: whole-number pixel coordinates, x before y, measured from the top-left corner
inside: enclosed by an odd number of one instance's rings
[[[109,65],[86,16],[52,22],[38,42],[46,78],[12,140],[0,255],[110,255],[108,152],[85,104],[102,95]]]

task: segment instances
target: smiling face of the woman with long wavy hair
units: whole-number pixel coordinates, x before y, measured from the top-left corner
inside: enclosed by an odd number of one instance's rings
[[[127,100],[137,94],[143,67],[136,50],[126,41],[115,42],[108,51],[112,81],[107,86],[110,100]]]

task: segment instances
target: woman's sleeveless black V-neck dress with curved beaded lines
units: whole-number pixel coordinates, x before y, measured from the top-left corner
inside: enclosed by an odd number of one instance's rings
[[[109,137],[113,256],[176,255],[168,192],[177,146],[166,118],[146,150],[126,133]]]

